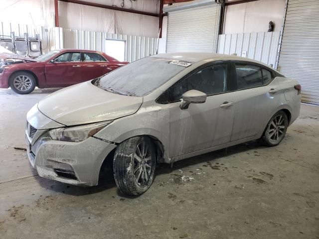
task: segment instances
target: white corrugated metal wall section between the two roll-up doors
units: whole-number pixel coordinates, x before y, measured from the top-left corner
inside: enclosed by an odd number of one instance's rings
[[[246,57],[274,67],[279,37],[280,31],[219,35],[218,53],[242,56],[247,51]]]

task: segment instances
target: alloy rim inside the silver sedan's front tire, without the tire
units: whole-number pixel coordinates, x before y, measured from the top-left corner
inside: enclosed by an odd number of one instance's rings
[[[152,169],[152,154],[148,144],[140,142],[134,153],[133,170],[137,184],[144,186],[148,183]]]

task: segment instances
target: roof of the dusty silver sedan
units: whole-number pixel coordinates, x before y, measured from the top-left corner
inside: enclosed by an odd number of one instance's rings
[[[255,61],[246,57],[240,57],[235,55],[225,55],[225,54],[216,54],[216,53],[207,53],[207,52],[172,52],[172,53],[162,53],[154,55],[155,57],[170,58],[174,60],[187,61],[191,63],[196,63],[203,60],[209,61],[218,61],[218,60],[237,60],[237,61],[248,61],[259,63],[264,66],[270,67],[260,61]]]

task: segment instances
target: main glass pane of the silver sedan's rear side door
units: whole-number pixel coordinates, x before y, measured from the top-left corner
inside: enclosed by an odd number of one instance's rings
[[[254,65],[237,64],[238,89],[254,88],[263,85],[262,68]]]

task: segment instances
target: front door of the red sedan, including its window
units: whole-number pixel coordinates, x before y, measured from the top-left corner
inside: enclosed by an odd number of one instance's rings
[[[45,64],[45,78],[50,87],[64,87],[82,82],[81,53],[64,52]]]

